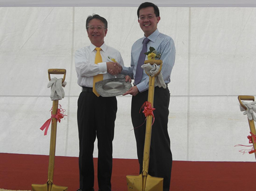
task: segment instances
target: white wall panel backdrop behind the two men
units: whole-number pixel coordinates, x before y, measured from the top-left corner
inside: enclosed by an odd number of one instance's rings
[[[67,69],[65,120],[57,124],[56,155],[78,156],[77,99],[81,88],[73,54],[89,45],[88,15],[108,22],[106,44],[130,65],[130,49],[143,36],[137,7],[0,8],[0,152],[49,154],[39,128],[50,117],[49,68]],[[174,160],[254,161],[247,117],[238,95],[256,95],[255,8],[160,7],[159,31],[176,45],[168,131]],[[54,77],[54,76],[52,76]],[[59,75],[56,76],[60,78]],[[114,158],[137,158],[130,118],[131,96],[118,96]],[[97,157],[97,141],[94,156]]]

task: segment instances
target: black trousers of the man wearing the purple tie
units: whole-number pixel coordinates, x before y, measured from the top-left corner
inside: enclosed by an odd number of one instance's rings
[[[131,101],[131,120],[133,122],[135,138],[137,142],[137,155],[139,159],[140,172],[143,167],[143,151],[146,132],[144,113],[139,113],[143,103],[148,100],[148,91],[133,96]],[[152,125],[150,162],[148,174],[154,177],[163,177],[163,190],[169,191],[172,169],[172,153],[170,148],[170,137],[168,135],[170,91],[155,87],[154,108],[155,122]],[[142,125],[143,124],[143,125]],[[142,126],[141,126],[142,125]]]

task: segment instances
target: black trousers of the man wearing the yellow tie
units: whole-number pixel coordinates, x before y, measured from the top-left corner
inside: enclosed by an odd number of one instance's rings
[[[93,92],[81,92],[78,100],[80,189],[94,185],[93,150],[98,139],[98,186],[111,190],[112,141],[117,113],[116,97],[97,97]]]

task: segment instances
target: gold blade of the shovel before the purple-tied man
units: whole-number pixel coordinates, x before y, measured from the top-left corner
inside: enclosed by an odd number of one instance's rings
[[[147,175],[146,186],[143,188],[142,174],[139,176],[126,176],[128,191],[163,191],[163,178]]]

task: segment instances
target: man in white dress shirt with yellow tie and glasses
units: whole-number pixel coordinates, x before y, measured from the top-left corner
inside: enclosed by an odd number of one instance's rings
[[[82,87],[78,100],[77,124],[79,129],[79,171],[80,189],[94,190],[93,149],[98,139],[98,188],[111,190],[112,141],[117,113],[117,99],[102,97],[93,92],[93,79],[101,75],[103,80],[123,78],[119,74],[123,60],[118,50],[107,46],[104,37],[108,32],[108,22],[100,15],[88,16],[86,31],[91,44],[76,51],[75,66],[77,83]],[[96,52],[100,48],[102,62],[96,63]],[[112,60],[114,60],[114,62]],[[107,71],[111,70],[112,74]],[[117,75],[118,74],[118,75]]]

